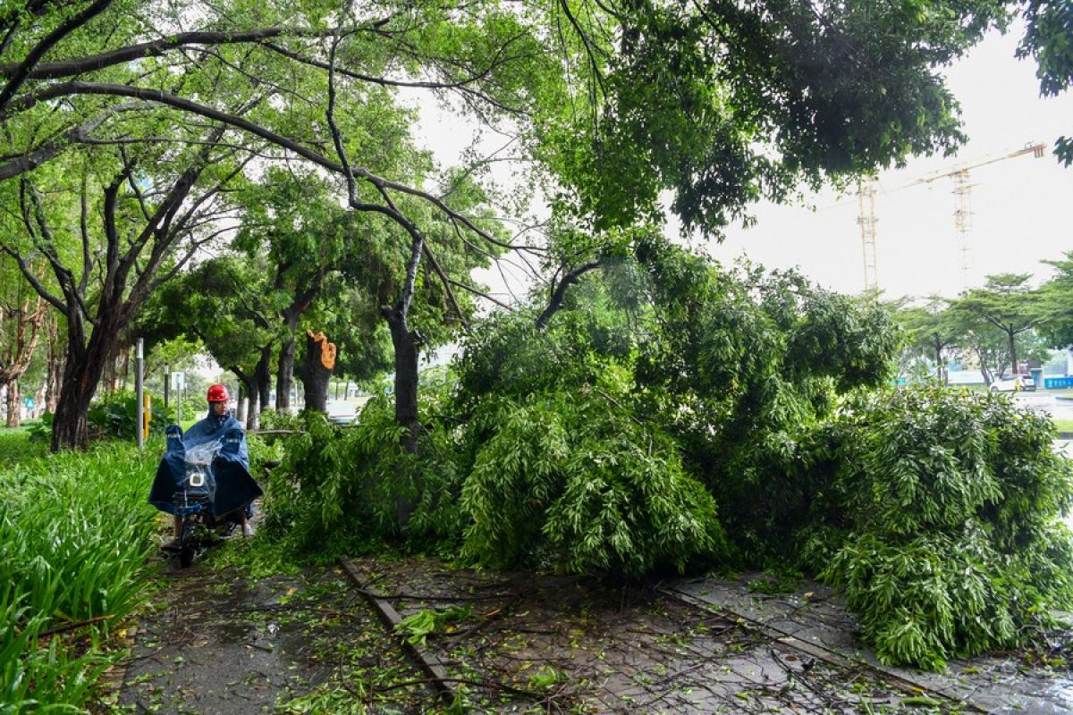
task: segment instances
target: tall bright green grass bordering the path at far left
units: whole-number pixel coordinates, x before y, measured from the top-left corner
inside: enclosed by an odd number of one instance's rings
[[[0,713],[76,712],[118,654],[109,637],[143,598],[160,449],[124,444],[0,461]]]

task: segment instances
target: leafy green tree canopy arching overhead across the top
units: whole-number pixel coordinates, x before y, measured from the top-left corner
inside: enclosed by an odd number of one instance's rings
[[[271,170],[323,184],[303,210],[335,202],[366,215],[363,226],[380,222],[373,233],[394,244],[383,255],[398,281],[380,314],[400,381],[397,418],[415,435],[416,357],[431,332],[411,319],[418,282],[438,282],[441,317],[462,326],[471,308],[458,294],[491,299],[467,267],[529,253],[554,312],[584,272],[632,250],[623,236],[662,224],[662,192],[685,230],[718,237],[761,197],[787,200],[803,182],[952,151],[964,136],[938,70],[1021,12],[1023,51],[1057,91],[1068,78],[1059,5],[31,0],[6,11],[6,206],[33,219],[25,233],[39,242],[58,240],[57,219],[42,223],[33,208],[41,196],[64,193],[68,213],[80,203],[104,219],[82,232],[80,249],[75,233],[70,255],[54,251],[60,293],[35,286],[72,323],[69,370],[91,375],[79,394],[68,386],[55,446],[84,444],[79,415],[114,348],[101,333],[121,333],[151,288],[181,269],[180,244],[230,238],[226,221],[205,212],[239,210],[227,194]],[[506,230],[501,220],[520,219],[518,207],[481,185],[496,157],[474,150],[462,167],[439,167],[418,150],[403,91],[512,137],[510,160],[550,203],[550,230]],[[59,168],[71,163],[85,168]],[[120,248],[124,232],[139,238]],[[101,240],[119,258],[100,264],[105,289],[87,294]],[[5,241],[33,284],[33,249]],[[330,243],[303,256],[326,257]],[[310,269],[289,280],[323,280]],[[292,336],[303,302],[283,311]],[[292,344],[278,345],[283,383]]]

